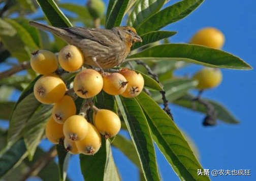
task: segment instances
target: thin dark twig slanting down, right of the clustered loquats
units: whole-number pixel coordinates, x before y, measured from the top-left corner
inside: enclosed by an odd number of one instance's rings
[[[159,83],[159,85],[161,85],[161,86],[163,87],[163,84],[162,84],[162,83],[159,81],[159,79],[158,79],[158,75],[157,75],[156,73],[154,73],[154,72],[151,70],[151,68],[150,68],[146,63],[141,62],[140,60],[136,60],[136,63],[137,63],[138,65],[144,66],[144,67],[147,69],[148,74],[149,74],[149,75],[152,75],[153,78],[155,79],[155,81],[157,81],[157,83]],[[160,91],[160,93],[162,94],[162,99],[163,99],[163,101],[164,101],[164,110],[165,110],[165,112],[170,116],[170,118],[171,118],[172,120],[174,120],[174,119],[173,119],[173,115],[172,115],[172,113],[171,113],[171,109],[169,108],[169,105],[168,105],[168,100],[167,100],[166,95],[165,95],[166,92],[165,92],[165,91]]]

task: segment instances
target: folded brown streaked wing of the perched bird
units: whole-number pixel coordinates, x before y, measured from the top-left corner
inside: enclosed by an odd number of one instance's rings
[[[110,32],[111,30],[95,29],[95,28],[87,28],[87,27],[71,27],[71,28],[63,28],[63,29],[67,30],[70,33],[76,34],[82,38],[97,41],[103,44],[104,46],[110,47],[111,44],[113,44],[114,34],[113,32]],[[107,36],[111,37],[111,39],[108,38]]]

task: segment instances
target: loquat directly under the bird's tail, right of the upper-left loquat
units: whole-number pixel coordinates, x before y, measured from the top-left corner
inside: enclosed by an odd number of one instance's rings
[[[58,61],[64,70],[74,72],[84,64],[84,56],[77,47],[68,45],[60,50]]]

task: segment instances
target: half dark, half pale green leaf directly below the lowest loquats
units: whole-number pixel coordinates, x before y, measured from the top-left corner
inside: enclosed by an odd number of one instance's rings
[[[105,139],[95,155],[80,154],[80,165],[84,180],[120,180],[110,143]]]

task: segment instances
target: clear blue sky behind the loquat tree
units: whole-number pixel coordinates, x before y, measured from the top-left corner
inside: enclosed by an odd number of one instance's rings
[[[62,0],[61,2],[74,2]],[[108,1],[106,1],[108,2]],[[172,0],[168,5],[178,2]],[[84,4],[84,0],[76,1]],[[166,30],[178,31],[171,38],[172,42],[188,42],[189,38],[200,28],[213,26],[226,36],[224,51],[239,56],[252,67],[256,67],[255,31],[256,1],[247,0],[205,0],[205,2],[185,19],[169,25]],[[190,66],[175,72],[176,75],[193,74],[200,66]],[[200,162],[206,169],[239,170],[250,169],[251,176],[217,176],[212,180],[256,180],[255,149],[255,93],[256,71],[222,70],[223,82],[215,89],[204,93],[207,97],[226,105],[239,120],[239,125],[218,122],[214,127],[203,127],[204,116],[171,105],[176,124],[196,143],[200,152]],[[17,99],[14,95],[13,99]],[[45,148],[49,143],[43,144]],[[123,180],[138,180],[136,167],[122,153],[113,149],[116,165]],[[171,166],[156,150],[163,180],[179,180]],[[72,180],[82,180],[79,160],[74,156],[68,170]]]

